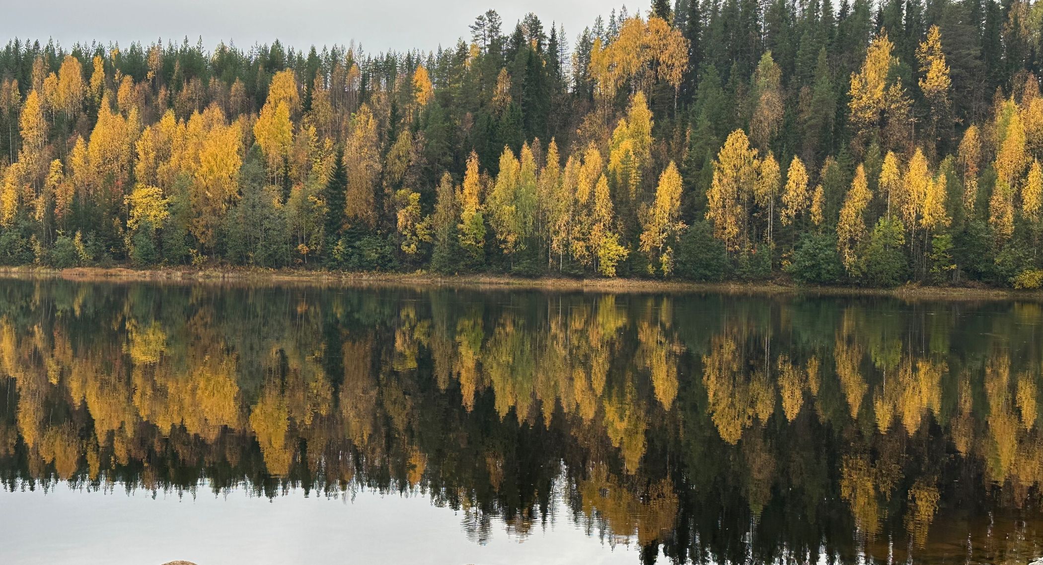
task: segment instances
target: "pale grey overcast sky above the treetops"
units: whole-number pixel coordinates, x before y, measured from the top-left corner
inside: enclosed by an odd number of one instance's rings
[[[157,38],[180,42],[188,35],[213,48],[221,40],[239,47],[270,43],[294,47],[347,45],[355,40],[369,52],[388,49],[448,47],[468,36],[467,24],[493,8],[504,19],[504,32],[529,11],[544,26],[564,24],[572,44],[597,15],[607,17],[620,0],[32,0],[2,2],[0,36],[54,38],[63,46],[76,42],[126,45]],[[642,11],[649,2],[628,5]]]

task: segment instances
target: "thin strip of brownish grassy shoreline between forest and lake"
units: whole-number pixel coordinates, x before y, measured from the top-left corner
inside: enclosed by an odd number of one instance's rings
[[[62,278],[79,281],[154,281],[171,284],[293,284],[330,287],[454,287],[477,289],[519,289],[547,291],[615,293],[692,293],[812,295],[812,296],[893,296],[948,300],[1027,299],[1043,301],[1043,292],[993,288],[919,287],[907,285],[894,289],[858,287],[804,287],[793,282],[688,282],[641,278],[523,278],[509,275],[436,275],[416,273],[342,272],[325,270],[256,269],[242,267],[194,269],[130,269],[124,267],[0,267],[0,277]]]

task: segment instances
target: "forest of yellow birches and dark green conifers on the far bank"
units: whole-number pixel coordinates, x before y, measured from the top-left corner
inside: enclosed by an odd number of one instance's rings
[[[14,39],[0,264],[1043,287],[1043,2],[593,16],[435,51]]]

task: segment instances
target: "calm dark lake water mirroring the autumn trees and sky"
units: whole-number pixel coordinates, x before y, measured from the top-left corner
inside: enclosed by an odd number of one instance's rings
[[[0,280],[0,562],[1027,563],[1043,305]]]

